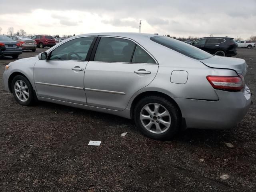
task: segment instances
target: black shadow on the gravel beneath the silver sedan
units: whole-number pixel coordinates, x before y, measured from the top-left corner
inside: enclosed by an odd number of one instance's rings
[[[77,116],[77,118],[94,118],[96,120],[101,120],[108,123],[114,122],[116,125],[120,124],[126,124],[128,125],[129,129],[131,131],[136,131],[140,136],[145,137],[142,135],[142,133],[136,128],[134,121],[130,119],[126,119],[120,116],[115,116],[112,114],[105,114],[101,112],[95,112],[95,111],[90,111],[90,110],[84,110],[80,108],[73,108],[70,106],[64,106],[60,104],[54,104],[54,103],[49,103],[49,102],[43,102],[39,101],[37,104],[37,107],[44,108],[48,111],[52,111],[52,113],[58,113],[59,115],[62,114],[72,114]],[[74,117],[76,118],[76,117]],[[135,129],[135,130],[134,130]],[[190,144],[199,144],[199,143],[204,143],[205,146],[208,147],[213,147],[218,146],[218,143],[220,142],[231,142],[234,140],[232,135],[234,135],[234,132],[236,132],[236,127],[229,129],[229,130],[204,130],[204,129],[186,129],[183,131],[178,132],[174,138],[170,139],[170,142],[180,142],[180,143],[190,143]],[[152,139],[153,140],[153,139]],[[160,142],[165,142],[161,141]]]

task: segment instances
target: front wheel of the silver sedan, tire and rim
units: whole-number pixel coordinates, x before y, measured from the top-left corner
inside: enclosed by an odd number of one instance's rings
[[[17,75],[13,78],[12,94],[18,104],[24,106],[30,106],[37,100],[32,85],[29,80],[22,75]],[[21,95],[20,98],[19,95]]]

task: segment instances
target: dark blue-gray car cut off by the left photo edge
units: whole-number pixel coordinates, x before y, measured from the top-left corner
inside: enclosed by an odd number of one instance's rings
[[[0,57],[12,56],[12,58],[16,59],[20,54],[22,54],[22,48],[19,42],[0,35]]]

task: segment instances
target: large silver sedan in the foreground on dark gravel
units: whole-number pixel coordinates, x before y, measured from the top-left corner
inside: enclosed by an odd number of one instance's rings
[[[69,38],[6,66],[4,86],[24,106],[54,102],[134,119],[147,136],[235,126],[251,104],[247,64],[153,34]]]

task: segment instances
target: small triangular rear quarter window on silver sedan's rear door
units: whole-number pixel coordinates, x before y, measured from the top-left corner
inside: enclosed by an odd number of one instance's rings
[[[138,45],[136,45],[134,55],[132,57],[132,62],[133,63],[156,63],[154,59]]]

